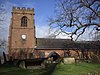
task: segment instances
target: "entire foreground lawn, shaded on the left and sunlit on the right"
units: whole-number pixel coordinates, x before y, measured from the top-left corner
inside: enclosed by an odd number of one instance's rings
[[[0,75],[87,75],[85,73],[100,72],[100,64],[75,63],[75,64],[58,64],[54,67],[49,65],[46,69],[21,69],[9,65],[0,65]],[[50,72],[50,73],[49,73]],[[88,74],[100,75],[100,74]]]

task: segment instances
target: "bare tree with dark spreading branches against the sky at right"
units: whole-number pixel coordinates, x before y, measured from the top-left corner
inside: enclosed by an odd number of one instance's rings
[[[100,0],[59,0],[55,13],[49,25],[56,28],[56,35],[63,32],[77,40],[86,29],[100,28]]]

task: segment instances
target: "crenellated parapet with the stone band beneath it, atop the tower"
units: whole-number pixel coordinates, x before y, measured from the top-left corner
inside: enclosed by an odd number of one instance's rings
[[[34,14],[34,8],[25,8],[25,7],[13,7],[12,13],[33,13]]]

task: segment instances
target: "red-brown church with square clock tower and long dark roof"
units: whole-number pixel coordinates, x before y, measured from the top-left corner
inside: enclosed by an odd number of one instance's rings
[[[90,50],[84,42],[74,42],[70,39],[36,38],[34,9],[12,8],[12,18],[9,27],[8,52],[14,59],[44,58],[50,54],[60,57],[72,56],[78,58],[83,46]],[[80,45],[80,46],[79,46]],[[92,46],[95,49],[94,46]]]

